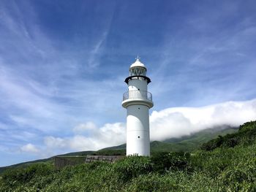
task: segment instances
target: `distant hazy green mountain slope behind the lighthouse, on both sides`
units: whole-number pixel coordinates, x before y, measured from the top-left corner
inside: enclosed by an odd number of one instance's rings
[[[163,142],[153,141],[151,142],[151,153],[157,151],[193,151],[200,147],[205,142],[208,142],[211,139],[217,138],[219,135],[224,136],[225,134],[233,134],[238,131],[238,127],[218,127],[218,128],[207,128],[203,131],[198,131],[189,136],[184,136],[180,138],[170,138],[166,139]],[[124,155],[126,149],[126,144],[106,147],[97,151],[80,151],[66,153],[56,156],[72,156],[72,155]],[[53,161],[54,157],[39,159],[36,161],[27,161],[20,164],[14,164],[11,166],[0,167],[0,174],[4,172],[5,169],[12,169],[20,166],[29,166],[30,164],[37,164],[43,162]]]

